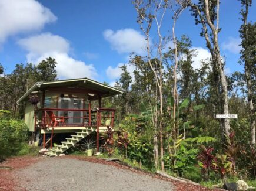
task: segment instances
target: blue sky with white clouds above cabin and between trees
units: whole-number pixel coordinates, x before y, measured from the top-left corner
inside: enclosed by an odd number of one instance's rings
[[[237,0],[221,1],[219,42],[227,73],[242,70],[237,63],[240,9]],[[58,61],[60,79],[90,77],[113,84],[120,74],[118,66],[128,62],[130,52],[144,54],[145,37],[136,16],[131,1],[124,0],[0,0],[0,63],[8,74],[16,63],[36,64],[52,56]],[[255,17],[254,2],[249,20],[255,22]],[[171,30],[170,18],[165,19],[163,31]],[[176,33],[191,38],[198,51],[194,67],[199,67],[210,54],[189,10],[179,18]]]

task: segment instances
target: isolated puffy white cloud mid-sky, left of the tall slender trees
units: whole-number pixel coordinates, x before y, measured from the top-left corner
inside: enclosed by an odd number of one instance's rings
[[[112,49],[118,53],[145,54],[146,40],[140,32],[134,29],[121,29],[114,32],[107,29],[103,32],[105,40],[107,40]]]

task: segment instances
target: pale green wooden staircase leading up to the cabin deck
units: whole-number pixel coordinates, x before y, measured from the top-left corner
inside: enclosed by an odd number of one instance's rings
[[[94,131],[93,128],[87,128],[83,129],[81,131],[75,132],[75,135],[71,135],[72,138],[66,138],[67,141],[62,141],[61,145],[57,145],[56,147],[53,147],[45,154],[48,156],[59,156],[60,154],[64,153],[71,147],[75,147],[75,144],[77,144],[79,141],[81,141],[83,138],[87,137],[87,135],[91,134],[91,132]]]

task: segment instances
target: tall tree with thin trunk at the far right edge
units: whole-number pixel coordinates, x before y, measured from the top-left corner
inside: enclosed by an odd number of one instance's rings
[[[251,143],[256,144],[255,140],[255,64],[256,64],[256,23],[248,23],[247,17],[249,7],[252,0],[241,0],[242,21],[244,22],[240,27],[240,37],[242,39],[242,50],[240,63],[244,63],[244,77],[247,84],[247,98],[249,105],[249,117],[251,126]]]

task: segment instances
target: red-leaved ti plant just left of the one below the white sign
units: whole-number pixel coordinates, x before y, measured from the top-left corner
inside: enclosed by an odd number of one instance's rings
[[[202,168],[202,175],[204,175],[204,179],[208,180],[210,172],[214,168],[214,165],[212,164],[215,158],[214,155],[212,155],[212,151],[214,150],[214,148],[206,148],[204,145],[201,145],[200,148],[201,152],[197,157],[198,166]]]

